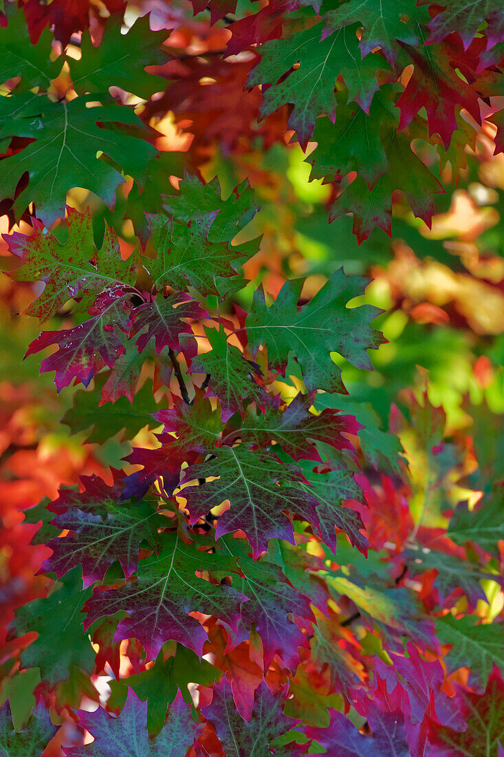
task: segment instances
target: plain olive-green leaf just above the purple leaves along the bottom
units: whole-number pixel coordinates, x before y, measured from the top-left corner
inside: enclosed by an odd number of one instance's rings
[[[163,727],[168,706],[173,704],[179,691],[183,701],[191,704],[188,684],[211,686],[221,675],[210,662],[199,659],[192,650],[177,644],[172,655],[163,659],[163,653],[160,653],[151,668],[129,675],[125,683],[142,702],[148,702],[147,730],[150,734],[157,734]]]

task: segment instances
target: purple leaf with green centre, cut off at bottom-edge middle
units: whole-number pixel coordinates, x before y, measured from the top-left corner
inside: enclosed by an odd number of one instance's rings
[[[272,754],[269,743],[297,722],[282,712],[285,693],[275,696],[263,681],[256,690],[254,711],[247,722],[235,709],[231,684],[226,678],[214,687],[212,703],[202,711],[215,728],[226,757],[266,757]]]

